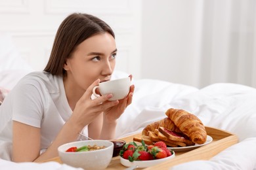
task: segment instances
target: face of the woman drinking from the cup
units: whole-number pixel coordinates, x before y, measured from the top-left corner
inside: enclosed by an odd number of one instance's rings
[[[116,53],[116,41],[110,33],[98,33],[81,42],[64,65],[68,82],[86,90],[98,78],[110,80]]]

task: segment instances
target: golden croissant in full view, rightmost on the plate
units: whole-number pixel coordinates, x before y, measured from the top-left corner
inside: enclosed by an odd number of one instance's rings
[[[168,109],[165,114],[182,133],[190,137],[193,143],[205,143],[207,133],[202,121],[197,116],[182,109]]]

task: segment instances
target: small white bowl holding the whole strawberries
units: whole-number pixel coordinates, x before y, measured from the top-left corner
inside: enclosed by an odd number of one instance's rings
[[[173,152],[173,154],[171,156],[168,156],[166,158],[161,158],[158,160],[148,160],[148,161],[129,161],[129,160],[125,160],[124,158],[122,158],[120,156],[120,162],[122,165],[124,165],[125,167],[132,167],[132,166],[138,166],[138,168],[146,168],[146,167],[151,167],[154,166],[158,163],[161,163],[163,161],[168,161],[175,158],[175,152]]]

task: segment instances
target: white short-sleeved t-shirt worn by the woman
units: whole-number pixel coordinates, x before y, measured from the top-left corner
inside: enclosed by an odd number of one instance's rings
[[[0,107],[0,158],[11,160],[12,120],[40,127],[43,150],[51,144],[71,114],[62,76],[46,72],[24,76]]]

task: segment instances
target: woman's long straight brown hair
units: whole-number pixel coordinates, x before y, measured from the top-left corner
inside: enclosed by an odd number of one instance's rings
[[[89,14],[70,14],[58,27],[51,56],[44,71],[66,76],[63,66],[66,59],[72,56],[73,50],[85,39],[106,32],[115,38],[111,27],[99,18]]]

